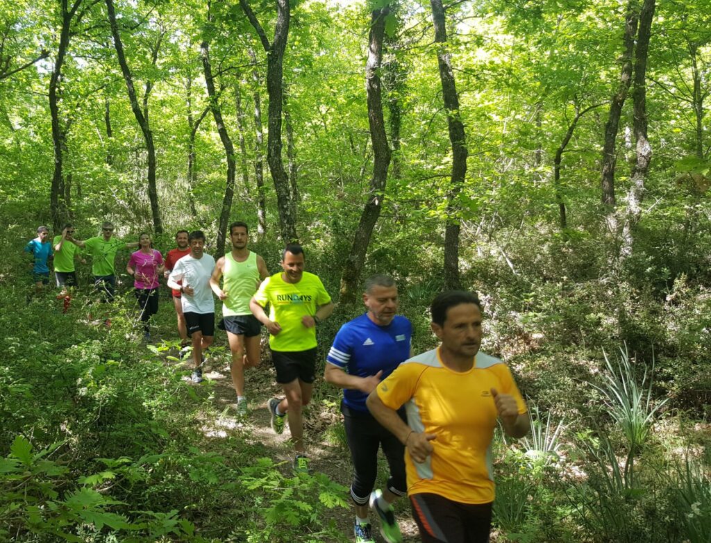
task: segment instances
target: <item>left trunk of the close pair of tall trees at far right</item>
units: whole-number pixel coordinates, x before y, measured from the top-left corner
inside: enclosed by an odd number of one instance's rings
[[[611,215],[615,206],[615,143],[619,128],[622,107],[627,99],[627,93],[632,82],[632,54],[634,52],[634,38],[637,33],[636,0],[629,0],[625,15],[624,51],[619,58],[621,64],[620,80],[617,91],[610,102],[610,112],[605,125],[605,141],[602,148],[602,203],[606,213]]]

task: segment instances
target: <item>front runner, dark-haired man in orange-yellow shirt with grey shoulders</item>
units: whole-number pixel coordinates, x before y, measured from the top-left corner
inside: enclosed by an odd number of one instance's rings
[[[423,543],[488,542],[494,499],[491,439],[528,433],[508,367],[479,352],[481,303],[449,291],[432,301],[439,348],[402,362],[370,394],[368,409],[407,448],[407,495]],[[405,405],[407,424],[397,415]]]

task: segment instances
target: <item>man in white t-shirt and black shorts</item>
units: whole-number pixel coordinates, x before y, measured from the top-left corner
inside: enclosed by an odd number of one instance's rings
[[[215,300],[210,289],[210,276],[215,269],[215,259],[205,254],[205,235],[194,230],[188,235],[190,254],[176,262],[168,276],[168,286],[181,291],[181,303],[188,335],[193,342],[193,382],[203,380],[203,351],[213,343],[215,336]],[[182,281],[182,284],[178,284]]]

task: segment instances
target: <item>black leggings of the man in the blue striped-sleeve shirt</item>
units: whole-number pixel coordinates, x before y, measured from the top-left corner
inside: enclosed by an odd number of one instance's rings
[[[387,489],[397,496],[407,492],[405,481],[405,448],[395,436],[373,419],[370,413],[354,414],[347,407],[342,408],[346,439],[353,458],[353,483],[351,498],[357,505],[366,505],[370,492],[378,476],[378,447],[390,466]]]

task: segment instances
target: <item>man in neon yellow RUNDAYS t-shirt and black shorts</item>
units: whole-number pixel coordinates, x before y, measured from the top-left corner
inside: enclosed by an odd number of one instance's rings
[[[277,382],[286,398],[269,400],[272,429],[284,431],[289,412],[289,430],[294,441],[294,471],[308,473],[309,458],[304,446],[301,408],[311,401],[316,367],[316,326],[333,313],[331,296],[321,279],[304,271],[304,249],[288,244],[282,254],[282,273],[267,277],[252,296],[250,310],[269,330],[272,362]],[[264,307],[269,304],[269,316]]]

